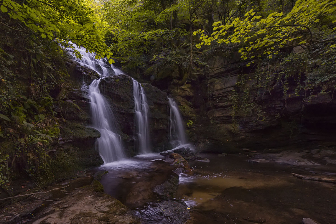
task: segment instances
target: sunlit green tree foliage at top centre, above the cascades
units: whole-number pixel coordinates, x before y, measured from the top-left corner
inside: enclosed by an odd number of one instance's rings
[[[108,21],[107,43],[126,68],[138,67],[154,79],[175,78],[183,85],[205,65],[195,52],[192,31],[202,26],[208,1],[101,1],[97,14]],[[170,71],[163,72],[161,71]]]

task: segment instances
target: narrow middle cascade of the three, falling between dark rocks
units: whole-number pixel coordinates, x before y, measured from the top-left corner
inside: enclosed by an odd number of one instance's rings
[[[132,80],[133,80],[133,96],[135,107],[135,125],[136,125],[136,134],[138,136],[137,147],[139,153],[141,154],[149,153],[151,152],[149,121],[148,121],[149,106],[142,86],[135,79],[132,78]]]

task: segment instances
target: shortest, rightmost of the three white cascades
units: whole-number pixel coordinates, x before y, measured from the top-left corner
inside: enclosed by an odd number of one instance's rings
[[[178,105],[172,98],[168,97],[168,100],[170,105],[170,138],[173,146],[172,150],[182,147],[193,150],[193,146],[186,139],[184,122]]]

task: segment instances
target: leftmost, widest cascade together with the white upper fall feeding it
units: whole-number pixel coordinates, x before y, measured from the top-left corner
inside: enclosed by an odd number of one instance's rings
[[[120,70],[108,67],[105,59],[95,59],[94,54],[86,53],[83,48],[76,48],[82,55],[82,59],[76,58],[82,66],[88,67],[99,74],[100,79],[93,80],[89,86],[88,94],[92,113],[92,127],[100,132],[100,138],[96,140],[96,147],[104,163],[125,157],[120,135],[117,134],[115,116],[108,101],[99,91],[99,82],[106,76],[120,74]]]

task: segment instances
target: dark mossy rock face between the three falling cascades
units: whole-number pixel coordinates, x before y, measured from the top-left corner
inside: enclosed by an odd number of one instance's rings
[[[162,151],[167,146],[169,137],[167,93],[150,84],[141,85],[150,107],[150,137],[153,151]],[[127,75],[109,76],[101,80],[99,87],[101,93],[110,101],[128,153],[134,154],[135,114],[132,78]]]

